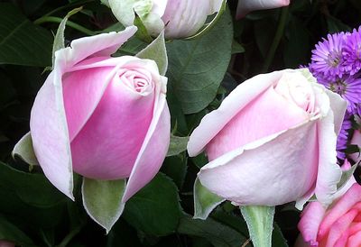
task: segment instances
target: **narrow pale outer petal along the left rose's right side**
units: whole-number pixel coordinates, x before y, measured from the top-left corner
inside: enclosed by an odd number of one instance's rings
[[[134,163],[134,168],[128,179],[122,202],[130,197],[154,178],[162,166],[162,161],[167,154],[171,139],[171,115],[165,99],[166,78],[157,88],[153,109],[153,120],[141,150]]]

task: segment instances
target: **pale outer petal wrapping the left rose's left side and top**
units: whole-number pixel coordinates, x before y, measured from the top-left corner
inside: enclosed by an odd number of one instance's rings
[[[69,131],[62,97],[62,76],[69,67],[82,59],[112,53],[135,31],[136,28],[131,27],[124,32],[99,34],[73,41],[72,48],[58,50],[54,70],[32,105],[30,129],[36,157],[46,177],[71,199],[74,198],[73,178]]]

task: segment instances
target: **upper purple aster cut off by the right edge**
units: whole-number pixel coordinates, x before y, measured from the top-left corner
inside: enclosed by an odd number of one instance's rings
[[[361,26],[358,31],[354,29],[352,33],[345,35],[344,65],[350,75],[355,75],[361,69]]]

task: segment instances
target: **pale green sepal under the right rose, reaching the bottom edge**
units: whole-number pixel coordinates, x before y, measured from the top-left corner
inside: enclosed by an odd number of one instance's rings
[[[271,247],[274,206],[240,206],[255,247]]]

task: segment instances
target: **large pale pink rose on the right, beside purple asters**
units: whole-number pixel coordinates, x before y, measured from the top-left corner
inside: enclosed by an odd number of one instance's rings
[[[346,102],[307,69],[250,78],[202,119],[188,151],[209,163],[200,183],[236,205],[275,206],[313,193],[331,202],[341,177],[336,139]]]

